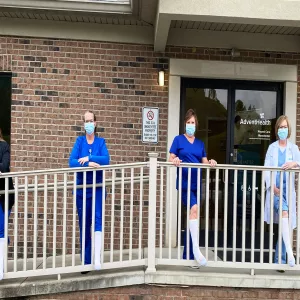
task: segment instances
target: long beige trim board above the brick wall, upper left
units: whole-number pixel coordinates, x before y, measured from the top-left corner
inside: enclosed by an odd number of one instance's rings
[[[153,44],[151,26],[0,18],[0,35]]]

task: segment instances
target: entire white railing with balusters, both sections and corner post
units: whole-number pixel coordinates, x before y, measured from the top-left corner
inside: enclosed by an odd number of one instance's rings
[[[273,225],[274,195],[270,198],[270,225],[264,222],[266,172],[283,172],[276,168],[239,165],[218,165],[211,168],[204,164],[182,164],[178,168],[179,187],[175,189],[175,172],[171,163],[157,160],[149,154],[149,162],[92,168],[66,168],[16,173],[2,173],[5,178],[5,245],[4,278],[31,277],[50,274],[93,270],[94,236],[90,264],[80,257],[76,190],[92,188],[95,224],[96,188],[103,187],[102,207],[102,269],[147,266],[155,272],[157,265],[195,266],[189,259],[189,209],[182,206],[182,172],[188,174],[191,185],[192,169],[197,172],[197,203],[200,249],[208,260],[208,267],[282,269],[287,264],[274,264],[274,233],[281,236]],[[96,184],[96,172],[103,172],[103,182]],[[87,172],[93,173],[93,184],[87,184]],[[76,175],[83,173],[81,186]],[[289,170],[297,174],[299,170]],[[200,180],[200,174],[202,179]],[[14,190],[8,189],[8,178],[14,181]],[[270,177],[271,186],[275,183]],[[292,194],[292,176],[287,182]],[[244,188],[246,187],[246,188]],[[300,184],[297,183],[297,205],[300,204]],[[15,194],[15,205],[8,222],[9,194]],[[190,192],[188,189],[188,206]],[[283,194],[280,193],[279,214],[282,213]],[[291,199],[291,197],[289,197]],[[299,207],[299,206],[298,206]],[[83,202],[83,215],[86,215]],[[292,215],[291,203],[289,215]],[[85,218],[83,218],[85,220]],[[291,239],[296,266],[299,270],[300,218],[296,216],[297,229]],[[83,221],[85,232],[86,220]],[[291,227],[290,221],[290,227]],[[92,233],[94,230],[92,230]],[[291,231],[292,232],[292,231]],[[187,259],[183,259],[183,242],[186,239]],[[8,241],[8,239],[5,239]],[[85,257],[85,239],[82,241]],[[281,243],[279,244],[281,263]],[[224,269],[226,270],[226,269]],[[225,271],[226,272],[226,271]]]

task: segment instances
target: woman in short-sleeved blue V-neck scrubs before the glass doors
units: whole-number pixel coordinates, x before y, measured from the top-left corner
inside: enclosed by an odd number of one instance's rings
[[[208,160],[205,152],[204,143],[195,138],[196,128],[198,126],[197,115],[194,110],[189,109],[185,115],[185,133],[174,138],[170,148],[169,161],[175,166],[183,163],[204,163],[216,166],[217,162],[213,159]],[[201,170],[200,170],[201,171]],[[200,173],[201,174],[201,173]],[[201,176],[201,175],[200,175]],[[178,189],[178,170],[176,188]],[[190,190],[190,259],[195,259],[200,266],[207,264],[206,258],[199,249],[198,233],[198,206],[197,206],[197,169],[191,169],[191,181],[188,186],[188,168],[182,169],[182,202],[187,207],[188,189]],[[200,191],[199,191],[200,192]],[[186,254],[186,239],[184,239],[183,259],[187,258]]]

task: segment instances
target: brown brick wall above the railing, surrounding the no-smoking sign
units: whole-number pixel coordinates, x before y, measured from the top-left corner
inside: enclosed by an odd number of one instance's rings
[[[154,53],[147,45],[17,37],[0,37],[0,47],[0,54],[10,58],[6,65],[11,64],[13,74],[14,171],[67,167],[75,138],[83,132],[82,113],[87,109],[96,114],[111,163],[145,161],[153,151],[165,160],[168,76],[166,85],[160,87],[157,72],[164,68],[168,73],[169,58],[296,65],[300,61],[298,53],[244,50],[232,58],[226,49],[167,47],[165,53]],[[144,106],[160,109],[157,145],[141,142]],[[298,131],[298,140],[299,136]],[[32,214],[29,224],[32,228]],[[19,232],[23,230],[20,226]]]

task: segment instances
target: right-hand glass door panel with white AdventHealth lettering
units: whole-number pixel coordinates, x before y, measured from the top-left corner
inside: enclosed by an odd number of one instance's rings
[[[277,116],[281,114],[281,86],[273,84],[235,84],[233,90],[233,155],[231,163],[238,165],[264,164],[268,146],[275,138],[275,123]],[[253,213],[252,202],[252,172],[246,172],[246,186],[243,186],[244,172],[239,171],[237,176],[237,232],[236,248],[242,248],[242,217],[243,217],[243,192],[246,189],[246,249],[251,249],[251,216]],[[233,180],[233,179],[231,179]],[[260,224],[261,218],[261,172],[256,172],[255,180],[255,234],[254,247],[260,248]],[[232,199],[232,195],[231,195]],[[231,201],[232,203],[232,201]],[[233,209],[229,214],[233,213]],[[233,219],[233,218],[229,218]],[[264,229],[265,249],[269,248],[268,227]],[[232,236],[232,234],[231,234]],[[259,253],[254,259],[259,261]],[[237,261],[241,261],[241,251],[236,253]],[[245,252],[245,261],[250,262],[250,251]]]

